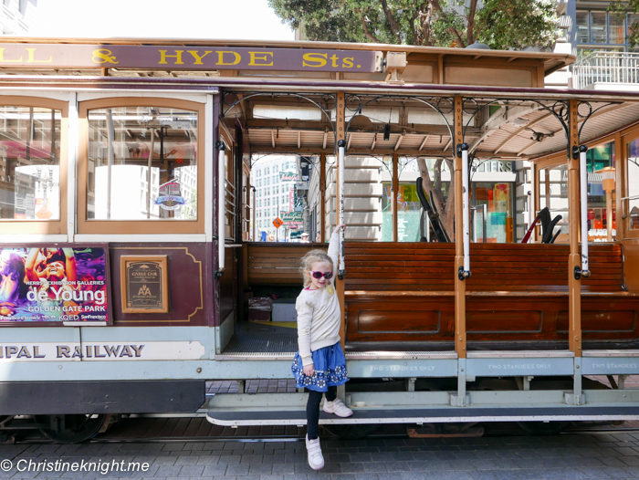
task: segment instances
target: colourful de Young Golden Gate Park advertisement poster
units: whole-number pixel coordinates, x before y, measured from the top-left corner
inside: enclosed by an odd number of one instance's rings
[[[104,246],[0,246],[0,326],[110,323]]]

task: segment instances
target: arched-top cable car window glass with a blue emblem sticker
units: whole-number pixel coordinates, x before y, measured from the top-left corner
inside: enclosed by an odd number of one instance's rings
[[[88,220],[197,220],[197,112],[115,107],[88,120]]]

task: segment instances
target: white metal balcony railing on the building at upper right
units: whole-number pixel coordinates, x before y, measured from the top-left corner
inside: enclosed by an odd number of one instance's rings
[[[592,83],[639,84],[639,53],[595,51],[572,66],[572,88]]]

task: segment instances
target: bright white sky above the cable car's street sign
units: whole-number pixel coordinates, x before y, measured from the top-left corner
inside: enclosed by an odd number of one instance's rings
[[[267,0],[37,0],[30,37],[293,40]]]

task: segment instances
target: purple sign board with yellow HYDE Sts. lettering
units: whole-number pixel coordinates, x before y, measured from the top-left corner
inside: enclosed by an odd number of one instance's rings
[[[269,47],[0,43],[0,67],[380,72],[382,52]]]

